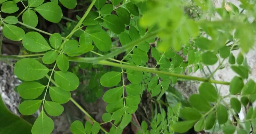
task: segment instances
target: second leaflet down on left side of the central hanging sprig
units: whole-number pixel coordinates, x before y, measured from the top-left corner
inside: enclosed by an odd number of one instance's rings
[[[104,93],[102,99],[107,103],[113,103],[119,100],[122,95],[123,95],[123,87],[120,86],[120,87],[107,90]]]

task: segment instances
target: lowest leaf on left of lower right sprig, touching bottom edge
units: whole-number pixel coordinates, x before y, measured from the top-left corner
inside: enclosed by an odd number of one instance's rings
[[[194,124],[196,120],[189,120],[189,121],[179,121],[175,122],[171,128],[174,132],[184,133],[188,131]]]

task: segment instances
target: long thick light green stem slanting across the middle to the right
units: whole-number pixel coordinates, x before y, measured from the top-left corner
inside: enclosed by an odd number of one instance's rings
[[[72,61],[72,62],[88,63],[86,58],[69,57],[68,59],[69,59],[69,61]],[[188,75],[184,75],[184,74],[171,73],[171,72],[166,72],[166,71],[159,71],[159,70],[153,70],[153,69],[130,66],[130,65],[121,65],[121,64],[118,64],[118,63],[108,62],[108,61],[104,61],[104,60],[99,61],[96,64],[108,65],[108,66],[113,66],[113,67],[122,67],[122,68],[126,68],[126,69],[133,69],[133,70],[136,70],[136,71],[144,71],[144,72],[151,72],[151,73],[157,73],[157,74],[164,74],[164,75],[168,75],[168,76],[179,77],[179,78],[190,79],[190,80],[208,81],[208,82],[211,82],[211,83],[217,83],[217,84],[223,84],[223,85],[229,85],[230,84],[230,82],[226,82],[226,81],[219,81],[219,80],[213,80],[213,79],[208,80],[207,78],[188,76]]]

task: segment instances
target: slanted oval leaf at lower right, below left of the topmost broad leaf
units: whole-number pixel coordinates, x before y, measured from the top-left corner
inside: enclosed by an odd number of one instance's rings
[[[192,94],[189,97],[190,104],[199,111],[207,112],[211,109],[209,103],[200,94]]]

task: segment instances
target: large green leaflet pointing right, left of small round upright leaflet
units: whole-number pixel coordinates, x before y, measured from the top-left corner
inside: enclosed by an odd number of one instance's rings
[[[44,37],[37,32],[28,32],[22,40],[22,44],[31,52],[44,52],[51,49]]]

